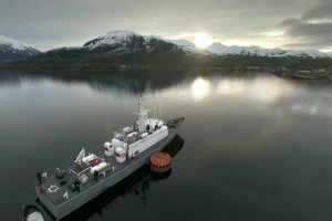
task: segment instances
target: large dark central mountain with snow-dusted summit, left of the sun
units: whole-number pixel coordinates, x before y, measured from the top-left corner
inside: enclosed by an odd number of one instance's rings
[[[76,63],[172,65],[185,61],[186,52],[162,36],[141,35],[133,31],[112,31],[77,48],[50,50],[33,56],[33,62],[50,63],[75,61]],[[37,61],[38,60],[38,61]]]

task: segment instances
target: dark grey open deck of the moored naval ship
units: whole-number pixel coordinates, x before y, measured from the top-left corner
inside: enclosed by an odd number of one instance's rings
[[[175,118],[168,122],[165,122],[168,126],[168,137],[176,134],[178,127],[184,122],[184,117]],[[164,139],[167,139],[164,138]],[[160,141],[163,141],[162,139]],[[160,143],[159,141],[159,143]],[[54,206],[61,204],[65,202],[66,200],[80,194],[81,192],[84,192],[85,190],[92,188],[93,186],[100,183],[104,179],[112,179],[111,177],[117,172],[121,172],[122,169],[126,168],[128,165],[133,164],[135,160],[139,159],[143,156],[149,155],[154,151],[154,149],[157,148],[158,144],[152,146],[149,149],[141,152],[135,158],[127,159],[125,162],[117,162],[115,159],[115,156],[106,156],[104,154],[104,150],[101,149],[97,152],[94,152],[97,157],[104,159],[104,161],[107,162],[107,167],[104,168],[102,171],[100,171],[97,179],[94,177],[93,173],[90,172],[90,167],[85,165],[76,165],[74,162],[69,162],[66,165],[63,165],[62,168],[56,168],[50,171],[46,171],[46,178],[42,178],[42,183],[38,185],[35,182],[37,189],[40,190],[40,192],[45,196],[50,202],[52,202]],[[56,176],[56,172],[64,171],[64,176]],[[80,183],[80,189],[73,188],[73,183],[75,179],[77,178],[77,173],[81,172],[86,175],[87,181],[85,183]]]

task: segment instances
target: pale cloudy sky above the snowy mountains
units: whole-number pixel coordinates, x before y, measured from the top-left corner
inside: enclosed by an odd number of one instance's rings
[[[40,50],[112,30],[331,51],[332,0],[0,0],[0,35]]]

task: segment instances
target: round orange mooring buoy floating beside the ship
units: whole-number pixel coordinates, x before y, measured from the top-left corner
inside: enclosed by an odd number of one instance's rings
[[[149,157],[149,168],[155,172],[165,172],[169,170],[172,157],[167,152],[154,152]]]

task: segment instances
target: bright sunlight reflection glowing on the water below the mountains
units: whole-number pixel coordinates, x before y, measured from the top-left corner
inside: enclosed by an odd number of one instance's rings
[[[249,81],[222,76],[218,78],[198,76],[191,81],[190,90],[179,86],[172,87],[166,93],[169,92],[189,101],[201,101],[209,96],[238,96],[269,104],[278,102],[279,98],[291,97],[301,93],[301,88],[297,88],[292,83],[283,80],[273,78],[271,81],[271,76],[261,76]]]

